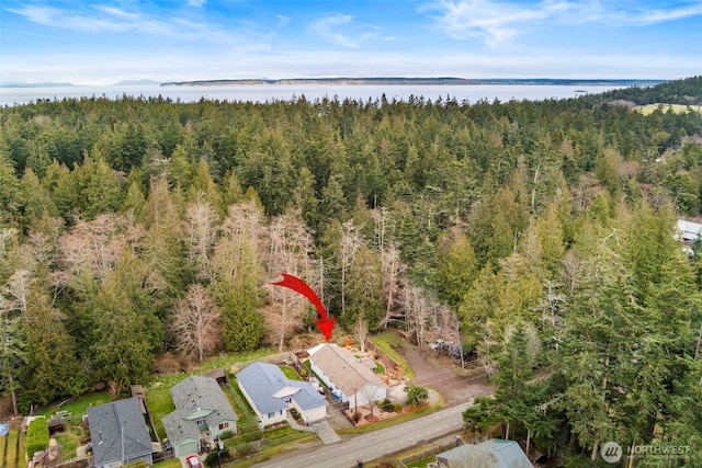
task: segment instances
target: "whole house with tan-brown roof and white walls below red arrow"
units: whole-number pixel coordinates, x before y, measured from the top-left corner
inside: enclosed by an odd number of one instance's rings
[[[312,369],[335,398],[354,406],[387,398],[387,386],[346,347],[319,344],[309,350]]]

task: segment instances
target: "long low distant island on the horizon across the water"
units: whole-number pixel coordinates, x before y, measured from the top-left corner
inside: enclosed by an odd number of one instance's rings
[[[222,87],[222,85],[254,85],[254,84],[322,84],[322,85],[476,85],[476,84],[555,84],[555,85],[618,85],[618,87],[649,87],[667,80],[637,79],[562,79],[562,78],[407,78],[407,77],[369,77],[369,78],[287,78],[287,79],[236,79],[236,80],[197,80],[172,81],[161,83],[161,87]]]

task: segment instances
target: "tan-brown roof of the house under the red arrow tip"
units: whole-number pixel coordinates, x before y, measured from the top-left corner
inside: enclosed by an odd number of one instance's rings
[[[346,347],[321,344],[309,350],[309,361],[319,367],[344,395],[352,395],[366,384],[385,387],[381,378],[363,366]]]

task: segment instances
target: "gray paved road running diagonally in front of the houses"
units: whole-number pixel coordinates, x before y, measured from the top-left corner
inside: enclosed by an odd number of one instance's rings
[[[296,456],[294,453],[281,454],[283,456],[278,455],[276,460],[269,460],[254,466],[276,468],[355,467],[358,459],[364,461],[375,460],[385,455],[461,431],[463,426],[461,413],[465,408],[466,404],[457,404],[414,421],[356,435],[314,452]]]

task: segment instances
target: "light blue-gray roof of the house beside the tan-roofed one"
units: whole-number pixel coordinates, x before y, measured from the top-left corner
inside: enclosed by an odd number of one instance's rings
[[[327,404],[325,398],[306,381],[291,380],[273,364],[253,363],[237,374],[237,381],[261,413],[285,410],[292,397],[302,410]]]

